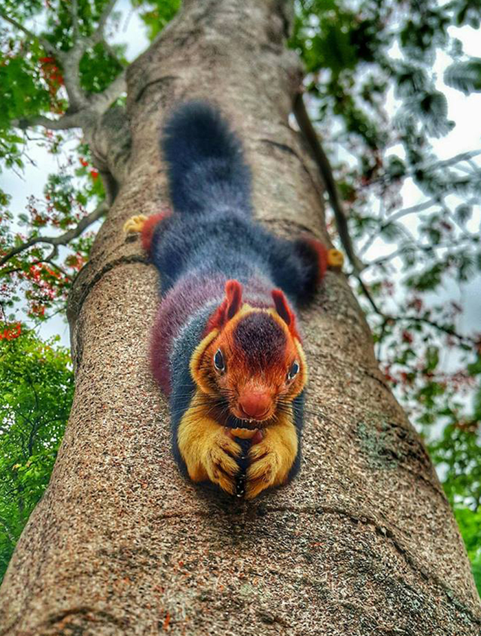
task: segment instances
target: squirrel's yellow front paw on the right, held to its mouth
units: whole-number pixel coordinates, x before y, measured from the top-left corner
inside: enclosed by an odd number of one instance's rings
[[[249,450],[245,498],[254,499],[262,490],[285,483],[297,454],[298,439],[293,426],[267,429],[264,439]]]

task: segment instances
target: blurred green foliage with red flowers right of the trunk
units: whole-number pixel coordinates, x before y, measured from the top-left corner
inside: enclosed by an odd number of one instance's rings
[[[432,146],[454,127],[432,73],[436,54],[451,57],[447,85],[480,91],[480,59],[463,54],[449,28],[478,28],[481,4],[300,0],[297,8],[291,47],[306,65],[326,151],[342,157],[335,176],[367,265],[358,291],[377,354],[427,438],[481,589],[481,332],[457,331],[462,307],[446,291],[479,280],[481,168],[478,149],[440,161]],[[385,107],[392,96],[394,116]],[[421,204],[403,210],[407,183]],[[395,247],[374,258],[378,237]]]

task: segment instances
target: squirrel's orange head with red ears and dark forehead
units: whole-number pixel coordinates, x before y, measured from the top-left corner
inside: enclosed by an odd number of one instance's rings
[[[295,315],[280,289],[272,298],[272,308],[250,307],[242,302],[242,285],[227,281],[223,303],[192,355],[197,386],[228,407],[235,426],[269,426],[306,384]]]

